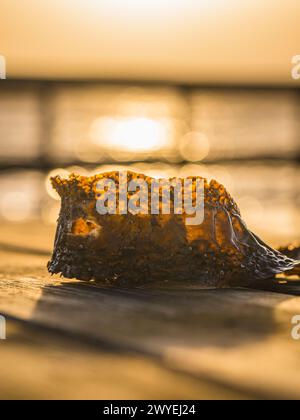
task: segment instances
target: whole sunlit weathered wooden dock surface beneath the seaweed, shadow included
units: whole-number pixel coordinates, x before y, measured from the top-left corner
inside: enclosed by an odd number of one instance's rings
[[[99,287],[48,275],[53,237],[38,223],[0,231],[1,399],[300,398],[297,283]]]

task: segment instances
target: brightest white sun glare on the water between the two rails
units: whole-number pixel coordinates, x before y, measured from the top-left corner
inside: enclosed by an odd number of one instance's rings
[[[92,142],[107,150],[145,153],[170,143],[170,124],[146,117],[101,117],[90,129]]]

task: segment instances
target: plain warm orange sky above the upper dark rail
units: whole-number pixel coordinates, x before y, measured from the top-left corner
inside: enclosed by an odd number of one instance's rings
[[[7,76],[300,84],[299,0],[1,0]]]

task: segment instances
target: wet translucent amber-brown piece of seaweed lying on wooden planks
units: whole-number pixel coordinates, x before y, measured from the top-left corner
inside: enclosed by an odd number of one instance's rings
[[[132,172],[127,177],[128,182],[152,181]],[[100,215],[95,186],[103,178],[119,185],[118,172],[52,179],[62,204],[50,273],[118,286],[186,282],[204,287],[249,286],[280,273],[299,273],[299,248],[275,250],[250,232],[216,181],[204,180],[204,221],[191,226],[185,214]]]

